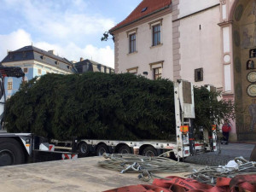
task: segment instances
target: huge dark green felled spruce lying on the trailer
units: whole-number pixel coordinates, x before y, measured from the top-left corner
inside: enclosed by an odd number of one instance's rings
[[[210,102],[211,96],[214,102]],[[195,88],[196,128],[233,113],[232,103],[214,98],[205,88]],[[46,74],[21,84],[6,103],[5,115],[10,132],[33,132],[59,140],[73,136],[119,140],[175,137],[172,81],[130,73]]]

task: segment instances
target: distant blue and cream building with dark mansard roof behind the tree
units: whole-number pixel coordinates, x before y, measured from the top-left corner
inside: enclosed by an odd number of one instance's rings
[[[68,61],[65,57],[55,55],[54,50],[45,51],[34,46],[25,46],[9,51],[1,61],[4,67],[20,67],[25,73],[24,81],[40,77],[46,73],[73,74],[86,72],[113,73],[113,68],[95,61]],[[4,78],[5,95],[13,96],[20,88],[22,79]]]

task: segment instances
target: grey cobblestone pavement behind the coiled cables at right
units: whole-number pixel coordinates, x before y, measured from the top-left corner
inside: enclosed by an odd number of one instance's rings
[[[230,160],[242,156],[249,160],[255,144],[249,143],[229,143],[228,145],[220,145],[218,143],[217,152],[209,152],[206,154],[197,154],[188,157],[184,162],[195,163],[204,166],[224,166]]]

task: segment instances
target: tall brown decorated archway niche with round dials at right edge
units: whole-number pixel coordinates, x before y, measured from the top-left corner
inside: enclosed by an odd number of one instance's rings
[[[248,141],[256,137],[256,0],[237,0],[230,13],[236,133],[238,140]]]

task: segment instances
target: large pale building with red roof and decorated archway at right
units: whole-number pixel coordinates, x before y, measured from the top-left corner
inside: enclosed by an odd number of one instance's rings
[[[212,84],[238,107],[230,140],[256,138],[255,0],[143,0],[109,32],[115,73]]]

